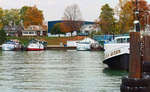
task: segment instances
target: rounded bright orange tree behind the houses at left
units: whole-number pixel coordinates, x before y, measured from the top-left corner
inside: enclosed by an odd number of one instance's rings
[[[38,10],[36,6],[29,7],[25,10],[23,23],[25,27],[30,25],[42,25],[43,24],[43,13],[41,10]]]

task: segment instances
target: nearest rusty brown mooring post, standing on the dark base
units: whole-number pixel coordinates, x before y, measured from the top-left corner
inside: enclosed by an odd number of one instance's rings
[[[129,78],[141,78],[140,32],[130,33]]]

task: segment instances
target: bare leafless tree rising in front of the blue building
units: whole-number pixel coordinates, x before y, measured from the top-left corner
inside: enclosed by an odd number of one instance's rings
[[[64,27],[69,27],[69,32],[79,31],[82,26],[82,17],[81,12],[78,5],[70,5],[67,6],[64,12]]]

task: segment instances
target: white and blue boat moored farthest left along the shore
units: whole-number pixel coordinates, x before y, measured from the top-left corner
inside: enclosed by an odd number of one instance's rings
[[[21,49],[22,49],[22,45],[16,39],[8,40],[4,44],[2,44],[3,51],[17,51]]]

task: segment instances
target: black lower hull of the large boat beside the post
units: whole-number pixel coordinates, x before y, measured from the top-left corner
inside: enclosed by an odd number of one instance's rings
[[[129,70],[129,54],[122,54],[103,61],[111,69]]]

